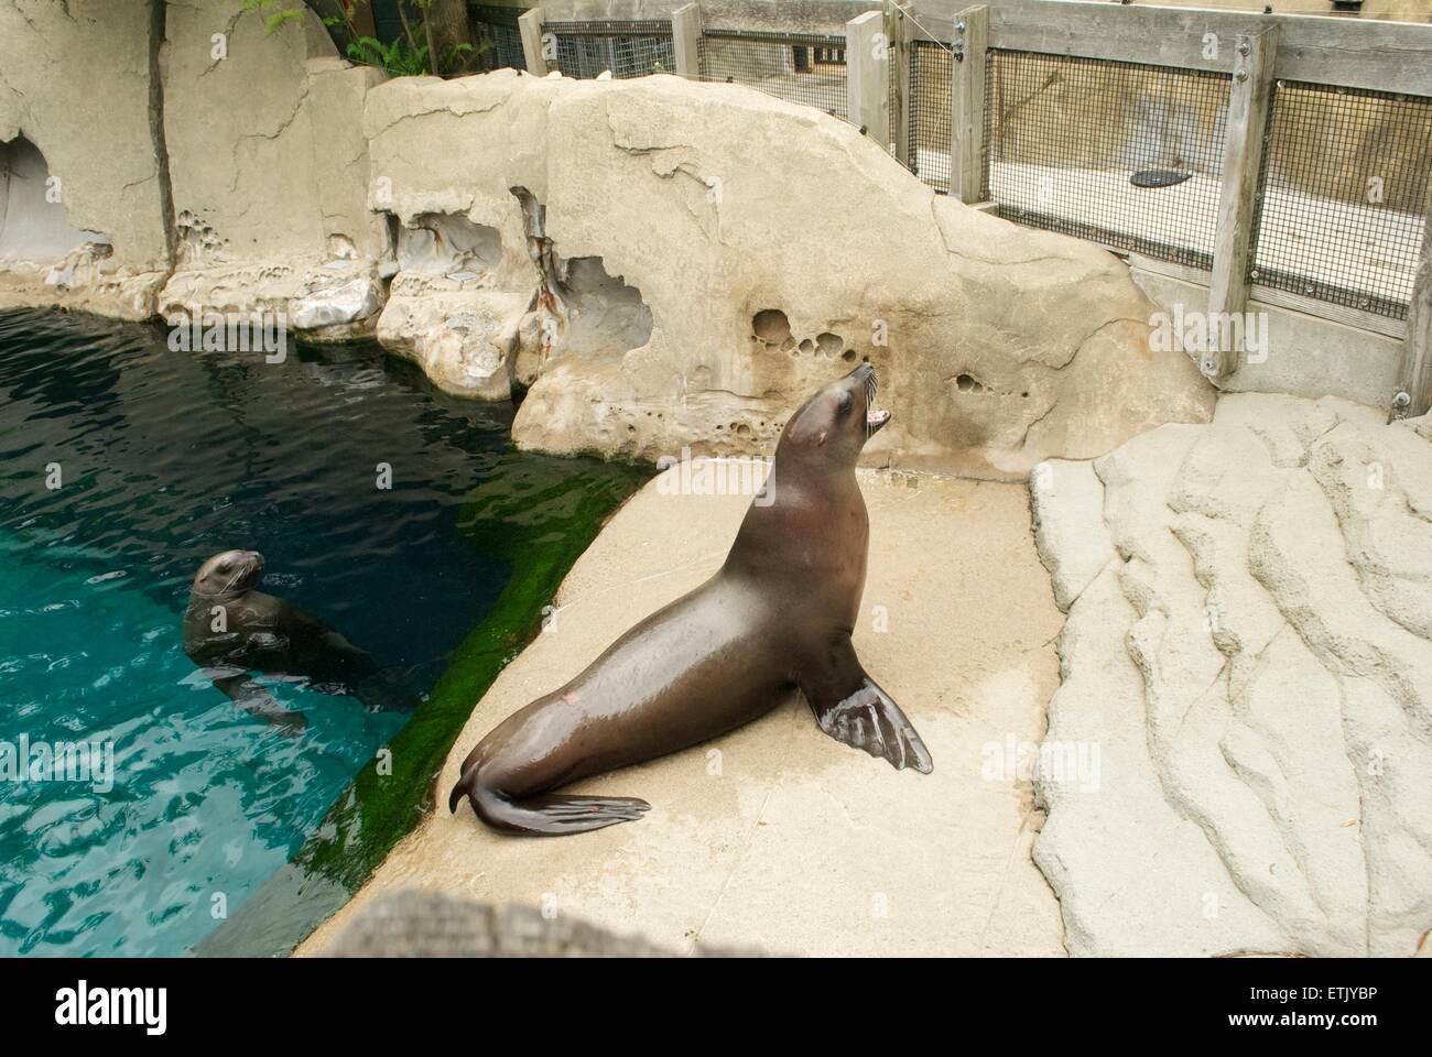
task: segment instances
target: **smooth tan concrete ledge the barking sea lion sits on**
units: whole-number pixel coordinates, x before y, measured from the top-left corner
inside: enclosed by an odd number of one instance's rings
[[[1022,486],[862,471],[869,579],[855,642],[929,746],[895,772],[821,733],[799,696],[712,743],[576,789],[642,796],[639,822],[551,839],[503,836],[447,791],[500,719],[722,563],[749,500],[666,496],[652,481],[563,583],[556,626],[477,703],[407,836],[298,951],[324,954],[375,895],[428,888],[527,904],[652,942],[785,954],[1063,955],[1060,908],[1031,859],[1042,816],[987,753],[1037,743],[1058,686],[1063,619]],[[888,632],[874,626],[876,607]],[[995,766],[998,766],[998,759]]]

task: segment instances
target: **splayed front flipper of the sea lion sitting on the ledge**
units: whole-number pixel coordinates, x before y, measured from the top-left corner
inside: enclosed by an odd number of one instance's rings
[[[899,705],[861,667],[849,640],[826,660],[828,669],[800,680],[821,729],[838,742],[888,759],[896,771],[934,771],[925,742]]]

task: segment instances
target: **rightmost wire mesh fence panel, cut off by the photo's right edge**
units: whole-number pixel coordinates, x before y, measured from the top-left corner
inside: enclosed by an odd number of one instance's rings
[[[1405,319],[1429,168],[1432,99],[1279,82],[1249,278]]]

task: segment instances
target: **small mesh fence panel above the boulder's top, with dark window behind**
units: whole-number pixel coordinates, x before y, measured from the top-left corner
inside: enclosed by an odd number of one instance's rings
[[[843,36],[707,29],[700,70],[702,80],[748,85],[836,117],[848,115]]]

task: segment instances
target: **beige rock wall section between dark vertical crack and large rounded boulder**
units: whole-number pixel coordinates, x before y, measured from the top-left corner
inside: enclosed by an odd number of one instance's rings
[[[239,0],[170,0],[163,90],[178,271],[160,315],[284,312],[311,338],[372,332],[390,249],[367,208],[362,107],[381,80],[339,59],[306,9],[266,34]]]

